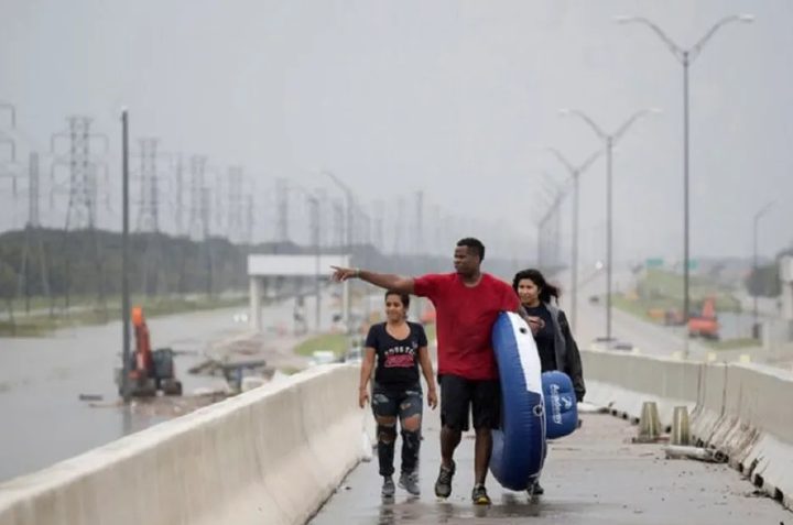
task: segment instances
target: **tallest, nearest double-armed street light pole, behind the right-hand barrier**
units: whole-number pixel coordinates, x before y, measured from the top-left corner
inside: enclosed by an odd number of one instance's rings
[[[723,26],[732,22],[751,23],[754,21],[754,17],[751,14],[732,14],[725,17],[716,22],[692,47],[685,50],[677,45],[666,33],[661,30],[654,22],[643,17],[615,17],[617,23],[638,23],[649,28],[653,31],[659,39],[661,39],[672,54],[683,66],[683,321],[688,322],[688,309],[689,309],[689,178],[688,178],[688,150],[689,150],[689,135],[688,135],[688,69],[691,64],[702,53],[705,44],[713,37],[714,34]],[[688,330],[685,330],[685,348],[684,358],[688,357]]]

